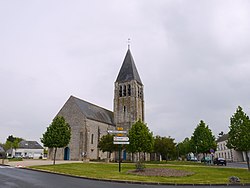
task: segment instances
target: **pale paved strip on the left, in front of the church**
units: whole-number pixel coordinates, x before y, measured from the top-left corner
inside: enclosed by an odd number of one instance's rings
[[[56,160],[56,164],[65,164],[65,163],[82,163],[82,161],[63,161]],[[7,165],[13,167],[27,167],[27,166],[38,166],[38,165],[52,165],[53,160],[33,160],[33,159],[24,159],[23,161],[12,161],[8,162]]]

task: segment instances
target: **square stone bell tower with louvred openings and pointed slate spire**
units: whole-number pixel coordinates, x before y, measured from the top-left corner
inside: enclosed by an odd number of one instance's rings
[[[114,121],[117,127],[128,130],[139,119],[144,122],[143,84],[128,48],[115,81]]]

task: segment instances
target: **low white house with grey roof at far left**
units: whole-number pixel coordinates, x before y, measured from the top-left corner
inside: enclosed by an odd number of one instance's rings
[[[39,159],[43,157],[43,147],[37,141],[22,140],[16,149],[7,151],[8,157]]]

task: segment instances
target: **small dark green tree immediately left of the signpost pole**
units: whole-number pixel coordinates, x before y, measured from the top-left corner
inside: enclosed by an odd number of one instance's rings
[[[109,152],[109,158],[110,158],[111,153],[113,153],[114,151],[118,151],[118,145],[113,144],[113,140],[114,140],[114,136],[111,134],[107,134],[107,135],[102,136],[102,138],[100,139],[98,143],[98,148],[102,152]]]

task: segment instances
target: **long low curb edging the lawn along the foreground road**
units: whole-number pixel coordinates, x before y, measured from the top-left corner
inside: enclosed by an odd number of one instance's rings
[[[225,184],[178,184],[178,183],[161,183],[161,182],[139,182],[139,181],[123,181],[123,180],[111,180],[111,179],[100,179],[100,178],[90,178],[90,177],[85,177],[85,176],[76,176],[76,175],[71,175],[71,174],[64,174],[64,173],[59,173],[59,172],[52,172],[52,171],[46,171],[46,170],[38,170],[38,169],[32,169],[32,168],[26,168],[26,167],[21,167],[19,169],[25,169],[25,170],[31,170],[31,171],[36,171],[36,172],[44,172],[44,173],[49,173],[49,174],[56,174],[56,175],[62,175],[62,176],[67,176],[67,177],[73,177],[73,178],[79,178],[79,179],[86,179],[86,180],[95,180],[95,181],[104,181],[104,182],[114,182],[114,183],[123,183],[123,184],[140,184],[140,185],[169,185],[169,186],[247,186],[250,187],[250,183],[225,183]]]

